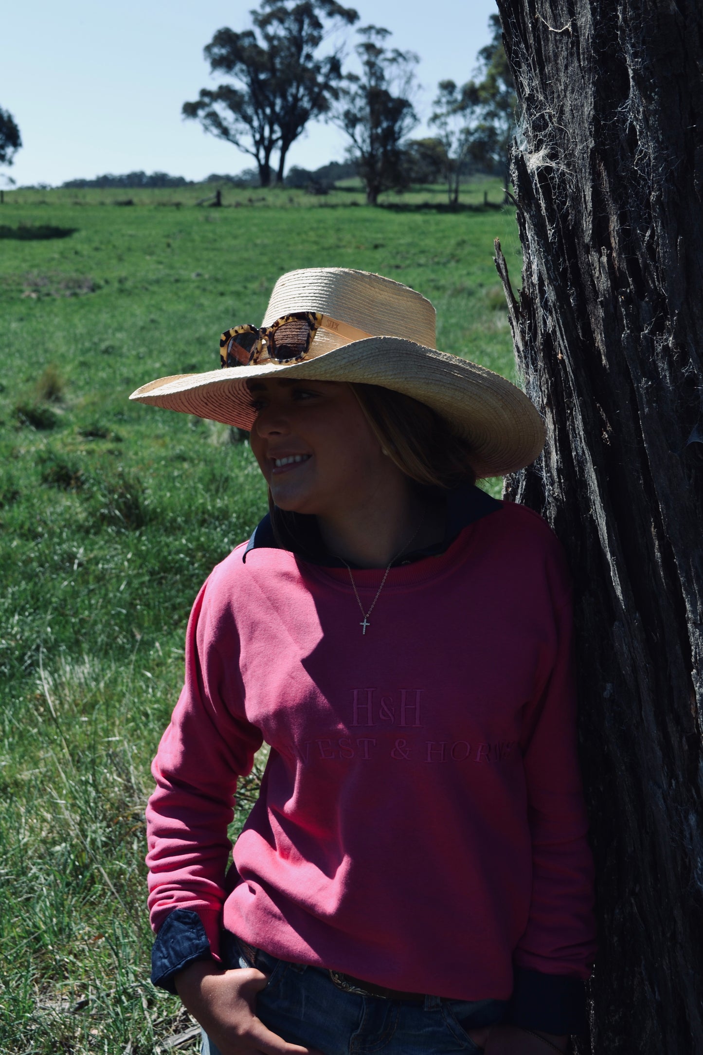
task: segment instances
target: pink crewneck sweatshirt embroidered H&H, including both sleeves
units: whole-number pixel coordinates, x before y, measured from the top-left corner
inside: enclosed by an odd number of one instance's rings
[[[346,569],[243,545],[200,591],[147,809],[152,924],[196,912],[294,962],[465,1000],[513,964],[587,978],[592,864],[570,587],[545,521],[503,503],[391,570],[363,634]],[[355,571],[365,610],[383,572]],[[237,776],[262,740],[234,846]]]

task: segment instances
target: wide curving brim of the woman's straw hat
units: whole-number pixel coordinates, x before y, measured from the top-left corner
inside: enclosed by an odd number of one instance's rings
[[[130,399],[250,429],[255,411],[247,382],[269,377],[379,385],[411,396],[468,441],[472,467],[482,478],[524,468],[545,442],[536,408],[506,378],[395,337],[365,338],[291,365],[262,363],[160,378],[137,388]]]

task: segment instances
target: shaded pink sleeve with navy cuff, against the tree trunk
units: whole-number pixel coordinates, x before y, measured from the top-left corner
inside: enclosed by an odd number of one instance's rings
[[[593,865],[577,750],[571,591],[561,546],[558,556],[553,661],[523,714],[532,896],[513,954],[511,1018],[532,1029],[575,1033],[573,1020],[584,1019],[577,1011],[579,1004],[585,1010],[583,982],[595,955]],[[534,1017],[542,1018],[538,1004],[544,1010],[550,1002],[551,1029]],[[571,1028],[553,1029],[562,1020]]]

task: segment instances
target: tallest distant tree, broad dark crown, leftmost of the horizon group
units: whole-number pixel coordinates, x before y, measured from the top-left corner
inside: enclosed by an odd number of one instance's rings
[[[261,0],[250,12],[253,28],[218,30],[204,49],[213,74],[229,82],[202,89],[182,114],[255,158],[262,187],[284,178],[286,156],[308,121],[328,113],[337,98],[344,42],[318,54],[335,31],[357,13],[336,0]]]

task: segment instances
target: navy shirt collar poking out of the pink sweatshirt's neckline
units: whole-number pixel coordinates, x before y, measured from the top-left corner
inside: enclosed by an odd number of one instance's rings
[[[491,498],[489,494],[476,487],[475,484],[467,483],[447,492],[447,516],[445,520],[445,534],[441,542],[433,545],[424,546],[421,550],[413,550],[406,553],[398,560],[393,561],[391,567],[401,564],[411,564],[424,557],[435,557],[449,549],[456,536],[464,528],[481,520],[500,510],[503,502],[496,498]],[[247,549],[242,554],[242,561],[247,560],[247,555],[251,550],[281,550],[287,549],[294,553],[301,560],[307,560],[312,564],[321,564],[325,568],[345,568],[345,562],[326,548],[323,537],[317,526],[314,516],[304,514],[295,515],[295,536],[291,536],[290,545],[281,546],[276,541],[273,533],[271,516],[267,513],[262,520],[252,532]],[[352,568],[356,567],[354,564]]]

